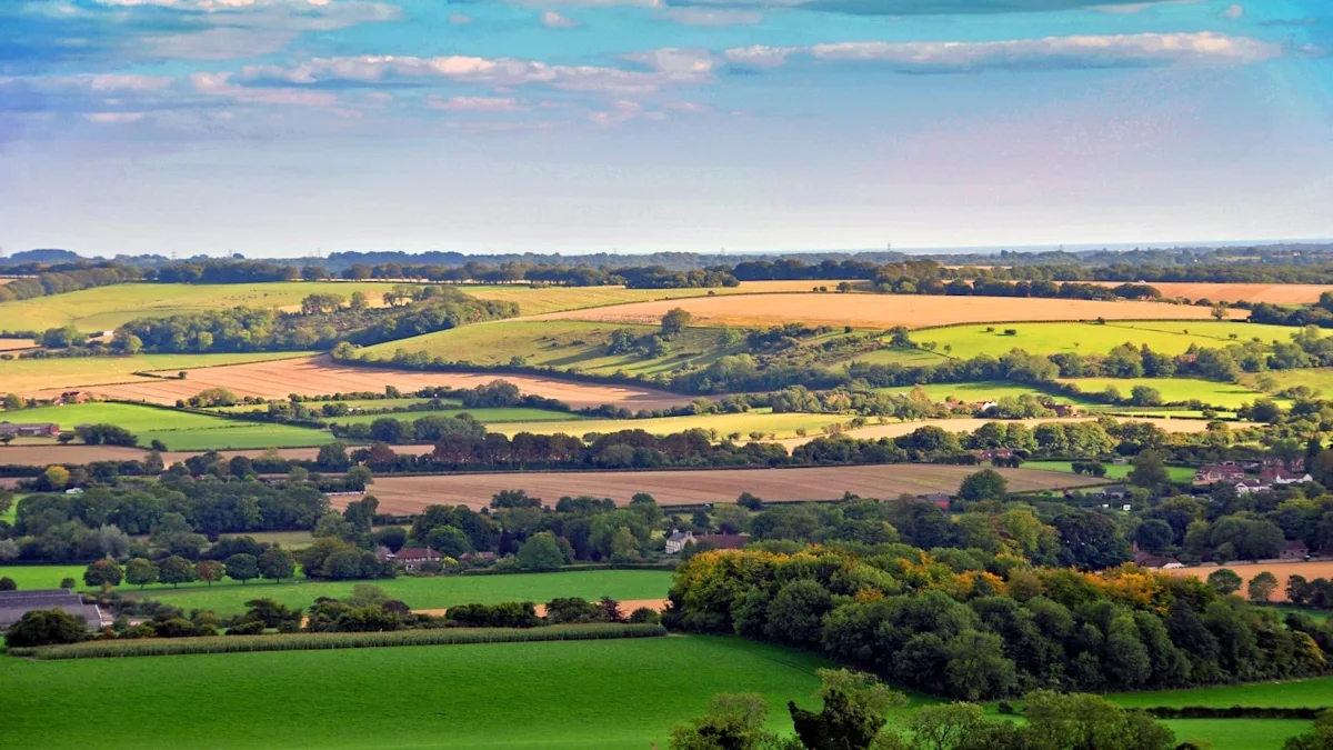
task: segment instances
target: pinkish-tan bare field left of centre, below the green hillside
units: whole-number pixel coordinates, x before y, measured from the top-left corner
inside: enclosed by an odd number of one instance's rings
[[[327,355],[203,367],[188,370],[184,380],[175,378],[175,372],[164,375],[172,375],[172,378],[89,386],[88,391],[109,399],[175,404],[179,399],[188,399],[205,388],[216,387],[227,388],[243,398],[285,399],[289,394],[315,396],[356,391],[384,392],[385,386],[393,386],[401,391],[416,391],[428,386],[475,388],[492,380],[509,380],[525,394],[560,399],[575,408],[611,403],[631,410],[652,410],[689,402],[689,396],[652,388],[576,383],[540,375],[501,376],[488,372],[417,372],[413,370],[348,367],[333,362]],[[51,398],[59,395],[59,388],[52,392],[40,391],[29,395]]]

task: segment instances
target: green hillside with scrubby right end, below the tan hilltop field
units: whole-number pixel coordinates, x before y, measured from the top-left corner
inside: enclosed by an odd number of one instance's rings
[[[742,351],[741,346],[724,348],[720,328],[688,328],[670,342],[664,356],[645,358],[637,352],[607,354],[612,331],[625,328],[636,336],[657,332],[656,326],[585,323],[579,320],[500,320],[461,326],[448,331],[367,347],[367,359],[389,359],[393,352],[424,351],[448,362],[471,364],[508,364],[521,358],[528,367],[555,367],[571,372],[612,374],[624,370],[632,375],[651,376],[685,366],[704,367],[725,354]]]

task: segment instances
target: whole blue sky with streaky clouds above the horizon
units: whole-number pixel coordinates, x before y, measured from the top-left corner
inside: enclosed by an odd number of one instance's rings
[[[1329,0],[0,0],[0,247],[1333,238]]]

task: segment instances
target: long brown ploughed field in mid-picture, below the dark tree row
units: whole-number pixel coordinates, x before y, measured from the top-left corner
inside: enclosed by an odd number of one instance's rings
[[[501,490],[525,490],[555,504],[565,495],[611,498],[620,504],[637,492],[648,492],[663,506],[733,503],[741,492],[769,502],[836,500],[845,492],[862,498],[897,498],[901,494],[949,492],[976,466],[886,464],[830,466],[817,468],[722,468],[692,471],[583,471],[437,474],[431,476],[376,478],[369,494],[380,500],[380,512],[411,515],[425,506],[483,508]],[[1100,484],[1102,480],[1074,474],[1029,468],[998,468],[1014,492]],[[333,507],[347,507],[356,495],[331,498]]]

